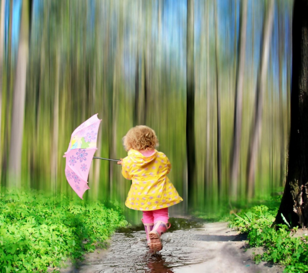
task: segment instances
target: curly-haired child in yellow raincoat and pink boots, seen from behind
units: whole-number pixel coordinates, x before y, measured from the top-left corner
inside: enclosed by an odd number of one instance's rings
[[[128,156],[121,159],[122,174],[132,180],[125,205],[141,210],[141,219],[151,251],[160,251],[160,236],[170,228],[168,207],[183,199],[169,181],[171,164],[166,155],[158,152],[155,132],[147,126],[131,128],[123,138]]]

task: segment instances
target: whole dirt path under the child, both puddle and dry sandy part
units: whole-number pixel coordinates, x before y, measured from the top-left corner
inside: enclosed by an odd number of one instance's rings
[[[162,236],[164,247],[151,255],[141,226],[112,237],[108,250],[86,257],[79,269],[62,273],[277,273],[282,268],[256,265],[252,251],[245,252],[245,241],[227,223],[202,224],[198,228],[174,230]]]

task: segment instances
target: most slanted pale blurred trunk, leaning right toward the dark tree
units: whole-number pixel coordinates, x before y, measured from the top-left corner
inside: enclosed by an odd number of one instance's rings
[[[256,101],[254,109],[254,118],[249,139],[249,148],[247,156],[246,170],[246,196],[248,199],[254,194],[255,168],[257,162],[257,153],[261,138],[263,95],[266,89],[266,75],[270,52],[270,39],[274,20],[274,0],[269,0],[266,11],[266,19],[263,24],[262,40],[260,46],[260,62],[257,75]]]

